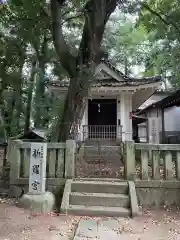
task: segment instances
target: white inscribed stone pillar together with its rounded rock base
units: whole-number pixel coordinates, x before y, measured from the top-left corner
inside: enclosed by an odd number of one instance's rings
[[[51,212],[55,198],[46,186],[47,143],[32,143],[29,169],[29,192],[20,199],[19,205],[37,213]]]

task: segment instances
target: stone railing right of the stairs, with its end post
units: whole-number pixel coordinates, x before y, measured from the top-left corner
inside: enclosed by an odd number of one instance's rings
[[[180,145],[127,142],[125,178],[180,180]]]

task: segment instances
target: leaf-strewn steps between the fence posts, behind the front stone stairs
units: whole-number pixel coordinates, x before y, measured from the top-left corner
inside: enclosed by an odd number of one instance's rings
[[[124,166],[122,143],[116,140],[86,140],[76,162],[78,178],[121,178]],[[79,171],[81,169],[81,172]]]

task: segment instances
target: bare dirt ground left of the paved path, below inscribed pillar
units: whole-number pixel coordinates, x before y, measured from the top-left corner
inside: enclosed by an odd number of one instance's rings
[[[14,204],[0,203],[0,240],[69,240],[78,217],[32,215]]]

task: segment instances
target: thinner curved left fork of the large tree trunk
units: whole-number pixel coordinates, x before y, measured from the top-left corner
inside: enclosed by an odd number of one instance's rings
[[[69,51],[62,31],[61,8],[66,0],[51,0],[52,33],[56,52],[60,58],[62,67],[71,77],[75,76],[76,59]]]

